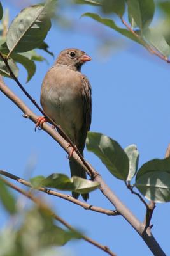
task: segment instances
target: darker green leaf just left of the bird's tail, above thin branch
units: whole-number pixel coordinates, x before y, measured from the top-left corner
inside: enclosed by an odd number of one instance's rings
[[[46,179],[41,181],[41,186],[69,191],[73,191],[75,188],[73,181],[71,181],[67,175],[60,173],[53,173],[52,175],[46,177]]]

